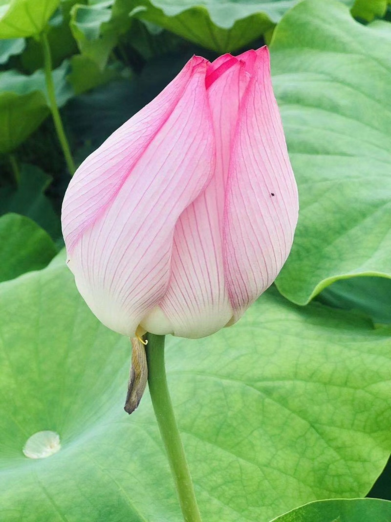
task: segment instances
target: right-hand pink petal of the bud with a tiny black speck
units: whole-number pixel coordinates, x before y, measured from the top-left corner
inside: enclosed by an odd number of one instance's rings
[[[298,216],[267,48],[257,54],[232,147],[224,216],[226,280],[236,319],[284,265]]]

